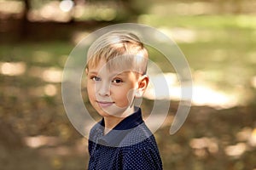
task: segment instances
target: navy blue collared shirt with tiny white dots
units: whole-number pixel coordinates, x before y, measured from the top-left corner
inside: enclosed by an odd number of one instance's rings
[[[104,133],[104,119],[90,130],[88,169],[162,169],[154,135],[143,122],[141,110],[125,117]]]

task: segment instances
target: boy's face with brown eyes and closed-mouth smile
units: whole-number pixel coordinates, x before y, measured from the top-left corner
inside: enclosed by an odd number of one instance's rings
[[[138,86],[139,79],[134,71],[109,71],[103,59],[87,71],[90,103],[101,116],[125,117],[131,114]]]

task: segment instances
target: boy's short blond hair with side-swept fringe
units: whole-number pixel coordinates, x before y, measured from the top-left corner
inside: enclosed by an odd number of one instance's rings
[[[147,72],[148,50],[143,42],[130,31],[110,31],[96,39],[88,50],[86,68],[94,68],[101,59],[108,69],[122,68],[123,71]]]

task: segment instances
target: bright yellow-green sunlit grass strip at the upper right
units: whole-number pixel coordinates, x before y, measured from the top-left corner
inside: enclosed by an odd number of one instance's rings
[[[139,22],[151,26],[186,27],[195,29],[248,29],[256,28],[254,15],[212,14],[212,15],[177,15],[177,14],[145,14]]]

